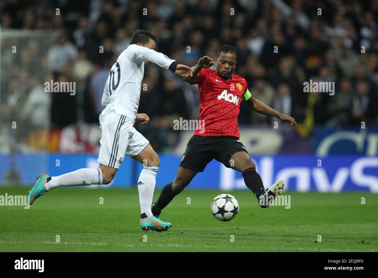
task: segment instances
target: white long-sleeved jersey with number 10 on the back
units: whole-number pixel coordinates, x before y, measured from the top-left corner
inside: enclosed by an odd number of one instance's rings
[[[110,69],[101,104],[106,106],[101,115],[116,112],[135,122],[139,106],[144,61],[169,69],[175,60],[153,49],[132,44],[124,50]]]

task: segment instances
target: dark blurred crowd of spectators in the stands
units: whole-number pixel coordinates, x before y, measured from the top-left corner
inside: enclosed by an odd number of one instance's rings
[[[378,0],[0,2],[2,28],[64,31],[48,51],[48,65],[54,81],[76,82],[76,95],[49,95],[52,128],[98,123],[109,69],[137,29],[155,33],[157,51],[189,66],[204,55],[214,58],[220,45],[235,46],[234,74],[247,80],[255,98],[307,130],[377,126],[377,19]],[[335,94],[304,92],[310,79],[335,82]],[[197,86],[152,63],[143,84],[139,113],[151,122],[138,129],[156,151],[169,151],[178,136],[173,120],[198,118]],[[240,124],[272,121],[241,105]]]

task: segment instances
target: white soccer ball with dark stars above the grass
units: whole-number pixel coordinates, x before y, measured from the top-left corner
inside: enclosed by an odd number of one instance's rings
[[[211,203],[211,213],[220,221],[230,221],[239,212],[239,203],[230,194],[220,194]]]

